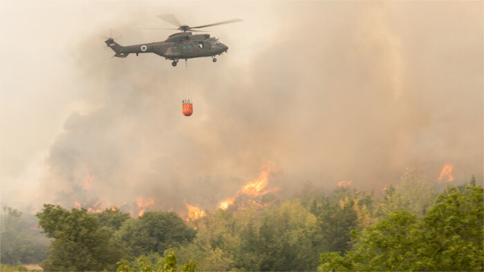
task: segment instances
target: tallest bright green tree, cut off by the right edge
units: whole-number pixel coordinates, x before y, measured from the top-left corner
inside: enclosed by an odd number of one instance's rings
[[[418,270],[483,271],[483,187],[451,186],[419,228]]]

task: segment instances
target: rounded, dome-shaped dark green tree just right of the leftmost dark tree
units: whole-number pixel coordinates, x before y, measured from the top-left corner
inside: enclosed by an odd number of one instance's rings
[[[140,255],[160,253],[192,242],[195,234],[176,213],[156,211],[127,220],[115,237],[127,249],[127,259],[135,260]]]

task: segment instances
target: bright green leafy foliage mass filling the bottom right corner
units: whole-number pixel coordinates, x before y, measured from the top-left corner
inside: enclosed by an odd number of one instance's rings
[[[483,271],[483,187],[451,186],[422,220],[394,211],[355,234],[344,255],[323,253],[319,271]]]

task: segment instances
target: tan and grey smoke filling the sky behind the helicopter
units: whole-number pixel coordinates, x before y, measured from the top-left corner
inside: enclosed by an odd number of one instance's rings
[[[108,28],[165,40],[141,28],[166,13],[244,21],[207,28],[215,64],[104,50]],[[483,177],[481,1],[2,1],[0,22],[2,202],[214,209],[263,166],[282,197]]]

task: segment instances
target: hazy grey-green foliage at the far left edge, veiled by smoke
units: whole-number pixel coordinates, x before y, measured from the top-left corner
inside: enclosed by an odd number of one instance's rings
[[[47,258],[48,239],[28,226],[17,209],[3,207],[0,227],[0,262],[17,265],[38,263]]]

